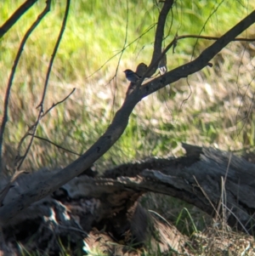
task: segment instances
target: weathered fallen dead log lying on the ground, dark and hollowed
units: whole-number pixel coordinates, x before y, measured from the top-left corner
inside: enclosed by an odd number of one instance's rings
[[[3,240],[12,247],[19,241],[29,250],[43,248],[44,253],[52,253],[62,249],[59,237],[78,250],[86,241],[90,247],[99,242],[100,235],[93,237],[102,234],[115,245],[124,243],[124,251],[130,244],[150,243],[154,251],[184,253],[187,238],[140,206],[139,197],[148,191],[178,197],[213,217],[225,213],[230,226],[254,232],[255,165],[229,152],[193,145],[184,148],[183,157],[150,158],[107,170],[100,177],[89,170],[71,179],[3,225]],[[20,174],[3,204],[22,195],[28,184],[50,179],[56,172]],[[7,183],[1,179],[1,190]]]

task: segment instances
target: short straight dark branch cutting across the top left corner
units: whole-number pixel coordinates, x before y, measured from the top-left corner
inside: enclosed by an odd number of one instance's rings
[[[11,17],[6,20],[6,22],[3,24],[3,26],[0,27],[0,38],[3,37],[3,35],[17,22],[17,20],[20,20],[20,17],[26,13],[28,9],[31,8],[31,6],[36,3],[37,0],[27,0],[25,3],[21,4],[19,9],[16,9],[14,14],[11,15]]]

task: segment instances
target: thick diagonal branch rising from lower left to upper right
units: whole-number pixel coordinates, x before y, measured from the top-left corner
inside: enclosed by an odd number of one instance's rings
[[[121,109],[116,112],[116,116],[113,118],[109,128],[105,131],[105,134],[88,151],[57,174],[53,174],[50,179],[41,179],[37,183],[28,185],[27,191],[17,196],[15,200],[11,202],[3,201],[3,206],[0,208],[0,225],[8,222],[15,214],[27,208],[31,203],[37,202],[44,196],[48,196],[48,194],[75,178],[78,174],[82,174],[84,169],[89,168],[100,156],[103,156],[116,143],[116,140],[121,137],[127,127],[128,118],[139,100],[142,100],[145,96],[152,94],[169,83],[178,81],[181,77],[187,77],[196,71],[200,71],[224,46],[235,39],[242,31],[245,31],[248,26],[251,26],[254,20],[255,11],[228,31],[223,37],[220,37],[217,42],[204,50],[196,60],[182,65],[173,71],[169,71],[141,87],[134,88],[130,94],[127,94]]]

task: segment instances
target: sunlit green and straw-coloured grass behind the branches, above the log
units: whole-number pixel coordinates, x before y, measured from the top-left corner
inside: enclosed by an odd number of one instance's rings
[[[40,4],[42,5],[42,3]],[[36,6],[37,11],[41,7],[40,4]],[[114,59],[97,71],[94,76],[86,79],[85,77],[97,70],[99,63],[101,64],[116,53],[116,50],[112,49],[122,48],[122,41],[116,43],[115,35],[111,33],[104,35],[101,31],[102,28],[99,27],[98,33],[95,34],[93,30],[89,30],[84,35],[81,30],[84,28],[85,20],[87,19],[86,22],[91,24],[91,22],[96,22],[94,19],[96,19],[97,14],[100,14],[103,15],[100,16],[102,20],[97,21],[102,24],[104,15],[105,19],[111,15],[111,5],[107,9],[104,7],[101,10],[99,3],[96,6],[91,3],[88,6],[90,10],[84,9],[83,20],[78,20],[75,19],[80,15],[78,10],[84,8],[82,7],[83,3],[79,4],[71,6],[69,22],[72,26],[67,26],[59,54],[54,62],[45,109],[62,100],[65,95],[71,92],[72,88],[75,87],[77,90],[69,100],[43,118],[37,134],[82,154],[105,131],[113,114],[122,104],[127,89],[127,81],[122,70],[126,69],[127,66],[134,69],[140,61],[148,63],[150,60],[152,44],[148,42],[153,37],[154,31],[152,30],[140,38],[135,47],[131,45],[125,50],[117,73],[115,73],[117,59]],[[201,2],[200,4],[204,3]],[[112,8],[116,9],[120,6]],[[126,11],[124,6],[122,8],[124,17]],[[133,5],[129,6],[129,11],[138,11],[134,8]],[[187,9],[183,9],[183,6],[176,8],[180,8],[181,13],[177,12],[174,18],[176,20],[181,18],[183,24],[179,28],[179,32],[187,33],[186,30],[189,27],[191,30],[189,32],[195,33],[200,31],[201,26],[204,25],[201,17],[197,16],[196,9],[204,8],[206,17],[215,6],[211,6],[211,9],[208,7],[207,10],[205,5],[200,7],[192,3],[191,13],[188,6]],[[220,8],[229,9],[229,6],[223,4],[220,5]],[[247,13],[249,9],[252,9],[252,5],[243,5],[238,8],[243,8],[243,11]],[[35,31],[28,42],[15,74],[9,104],[9,122],[5,133],[5,156],[9,166],[12,166],[18,141],[25,133],[27,126],[31,125],[37,117],[36,107],[42,94],[44,74],[48,67],[48,56],[54,45],[54,37],[56,37],[59,29],[60,14],[63,9],[64,5],[54,4],[52,14],[48,14],[48,23],[43,21],[38,31]],[[86,16],[91,13],[91,9],[94,9],[95,17]],[[96,10],[106,13],[97,13]],[[146,15],[146,10],[152,14],[158,14],[156,7],[150,3],[146,5],[143,15],[137,17],[136,22],[133,22],[132,18],[129,17],[130,39],[129,37],[128,39],[130,41],[136,36],[136,33],[140,34],[155,21],[155,17]],[[11,11],[9,9],[9,12]],[[3,19],[7,18],[6,13],[4,13]],[[239,15],[243,16],[243,13],[238,13],[235,19],[240,20]],[[27,17],[32,19],[36,17],[36,13],[31,12],[26,15],[26,19],[20,20],[20,26],[16,27],[16,31],[9,33],[6,39],[4,38],[1,42],[3,48],[8,49],[4,51],[0,59],[0,71],[3,78],[1,88],[5,88],[7,83],[8,73],[15,49],[19,46],[20,37],[30,24]],[[186,17],[188,20],[185,20]],[[55,27],[54,33],[51,34],[48,24],[53,19]],[[116,23],[111,23],[112,28],[114,26],[119,27],[121,22],[119,19],[120,17],[116,17]],[[190,25],[189,19],[192,22],[197,22],[197,27],[192,26],[190,28],[188,26]],[[225,20],[224,15],[222,17],[218,15],[218,20],[215,23],[215,17],[212,15],[207,22],[207,31],[213,31],[215,35],[218,35],[221,30],[225,31],[223,27],[217,26],[221,24],[221,19]],[[234,18],[231,17],[231,19]],[[122,20],[122,22],[125,21]],[[90,29],[88,24],[86,27]],[[108,23],[105,23],[105,31],[109,31],[106,26]],[[175,26],[178,27],[174,22],[173,31]],[[130,31],[132,30],[135,32],[131,36]],[[124,33],[123,26],[119,36],[124,37]],[[252,27],[248,33],[252,36],[254,28]],[[172,37],[169,39],[172,40]],[[109,48],[109,44],[111,44],[111,48]],[[175,48],[176,53],[173,54],[169,51],[167,54],[168,70],[190,61],[194,45],[197,55],[208,44],[210,43],[201,40],[198,44],[195,44],[195,40],[191,39],[180,41]],[[103,170],[112,165],[144,156],[178,156],[183,153],[180,148],[182,141],[195,145],[213,145],[223,150],[240,150],[246,145],[253,146],[252,100],[254,82],[252,79],[254,77],[254,60],[252,56],[254,49],[253,43],[230,43],[212,60],[212,68],[207,67],[188,77],[188,79],[182,79],[171,84],[167,88],[161,89],[157,94],[142,100],[133,111],[125,134],[111,151],[97,162],[98,168]],[[112,81],[111,78],[115,74],[116,80]],[[3,105],[3,97],[0,98],[0,105]],[[23,168],[36,170],[46,165],[49,168],[65,166],[76,157],[37,139]]]

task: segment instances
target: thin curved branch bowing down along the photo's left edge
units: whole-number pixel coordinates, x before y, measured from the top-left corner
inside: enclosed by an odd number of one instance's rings
[[[12,83],[13,83],[13,80],[14,80],[14,74],[15,74],[17,65],[19,63],[21,53],[22,53],[23,48],[26,44],[26,40],[28,39],[28,37],[30,37],[31,32],[35,30],[37,25],[41,22],[43,17],[50,10],[50,4],[51,4],[51,0],[46,1],[45,9],[43,9],[42,13],[38,15],[37,20],[31,25],[31,27],[28,29],[28,31],[26,31],[26,34],[25,34],[25,36],[23,37],[23,39],[20,43],[20,48],[19,48],[18,53],[16,55],[16,58],[14,60],[14,65],[12,66],[12,71],[10,73],[10,76],[8,78],[8,85],[7,85],[5,98],[4,98],[4,104],[3,104],[3,121],[2,121],[2,124],[1,124],[1,128],[0,128],[0,169],[1,169],[2,164],[3,164],[3,156],[2,156],[3,134],[4,134],[4,129],[5,129],[6,122],[8,121],[8,100],[9,100],[10,89],[12,87]]]

